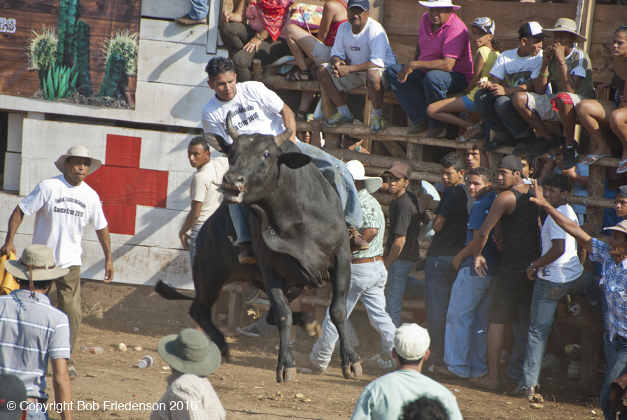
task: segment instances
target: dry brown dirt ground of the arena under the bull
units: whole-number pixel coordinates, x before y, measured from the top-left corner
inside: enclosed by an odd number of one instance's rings
[[[148,419],[149,411],[132,409],[127,403],[154,404],[161,398],[170,371],[157,354],[157,342],[164,335],[192,326],[187,314],[190,302],[162,300],[148,286],[92,281],[83,283],[82,296],[84,318],[74,354],[78,379],[72,381],[73,419]],[[276,339],[231,334],[227,341],[231,363],[223,363],[209,377],[227,419],[348,419],[362,388],[377,376],[364,367],[360,379],[346,380],[341,375],[339,358],[334,356],[330,372],[324,377],[299,373],[295,381],[277,384],[273,349]],[[118,350],[119,343],[129,350]],[[302,335],[298,338],[300,351],[308,351],[313,344]],[[103,346],[104,353],[81,352],[80,346]],[[136,346],[141,346],[141,351],[133,350]],[[356,350],[362,357],[369,356],[374,353],[368,351],[369,346],[372,343],[365,342]],[[145,355],[152,356],[155,364],[139,369],[137,361]],[[472,388],[467,381],[440,381],[457,397],[467,420],[603,419],[594,398],[596,393],[579,391],[577,381],[566,379],[565,372],[542,375],[545,402],[541,409],[530,407],[526,400],[503,395],[505,389],[486,392]],[[51,378],[48,394],[54,395]],[[115,402],[122,406],[116,409]],[[82,410],[77,409],[79,403],[83,404]],[[59,419],[57,413],[50,414],[51,419]]]

